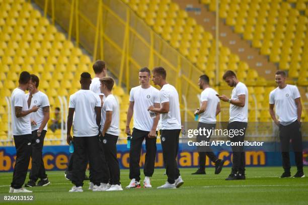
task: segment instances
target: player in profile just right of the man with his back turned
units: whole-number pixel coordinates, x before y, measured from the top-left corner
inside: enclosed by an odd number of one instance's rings
[[[106,191],[123,190],[120,183],[120,166],[117,159],[117,141],[119,138],[119,106],[111,90],[114,85],[112,77],[103,77],[101,81],[101,92],[105,95],[102,108],[101,142],[110,173],[110,188]]]

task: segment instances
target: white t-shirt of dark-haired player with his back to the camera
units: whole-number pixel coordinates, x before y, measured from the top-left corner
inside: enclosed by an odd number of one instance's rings
[[[68,108],[75,109],[73,120],[74,137],[98,135],[95,107],[101,107],[101,99],[91,90],[81,89],[70,95]]]

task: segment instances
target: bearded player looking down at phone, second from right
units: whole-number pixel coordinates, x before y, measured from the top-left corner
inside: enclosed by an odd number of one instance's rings
[[[231,98],[225,95],[219,96],[219,99],[229,102],[229,124],[230,130],[242,130],[238,135],[230,137],[231,142],[244,142],[245,132],[248,124],[248,89],[246,85],[237,79],[236,74],[232,70],[227,70],[223,76],[223,80],[230,86],[234,87]],[[246,179],[245,176],[245,151],[243,146],[233,146],[232,172],[225,180]]]

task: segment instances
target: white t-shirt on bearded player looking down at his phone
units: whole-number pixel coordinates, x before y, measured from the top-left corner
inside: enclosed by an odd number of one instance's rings
[[[232,90],[231,99],[239,100],[239,95],[242,94],[245,94],[245,106],[242,108],[230,104],[229,122],[248,122],[248,89],[244,83],[238,82],[238,84]]]

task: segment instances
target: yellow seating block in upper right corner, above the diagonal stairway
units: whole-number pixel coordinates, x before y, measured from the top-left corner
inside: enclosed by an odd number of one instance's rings
[[[215,12],[215,0],[202,0]],[[299,85],[307,85],[308,39],[305,0],[252,0],[221,1],[219,17],[242,34],[260,53],[287,70],[290,78],[298,79]],[[304,10],[306,10],[304,12]]]

